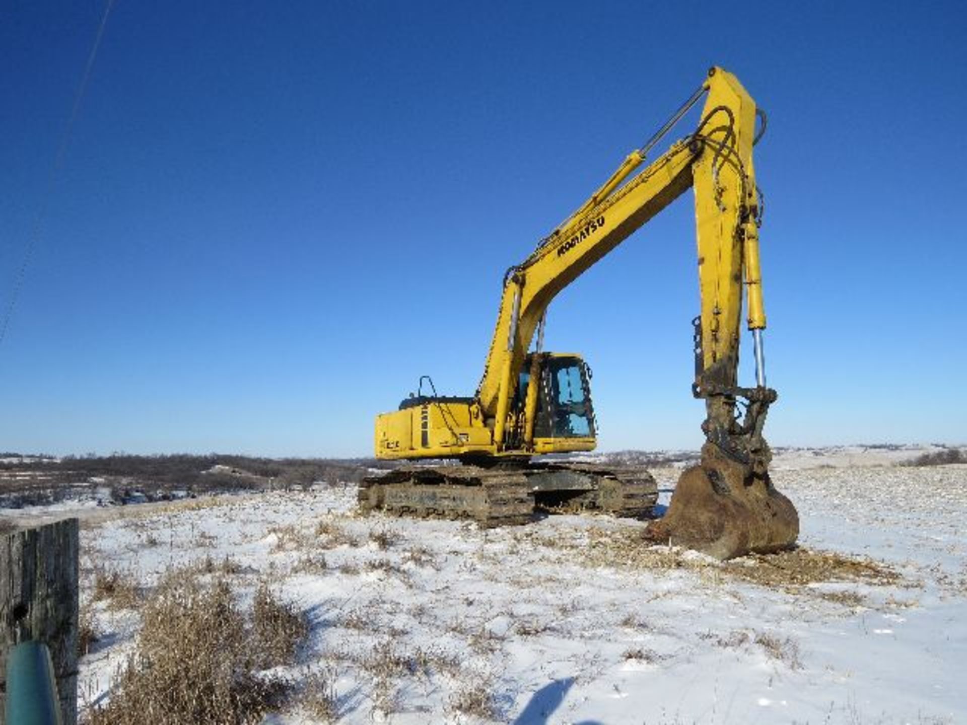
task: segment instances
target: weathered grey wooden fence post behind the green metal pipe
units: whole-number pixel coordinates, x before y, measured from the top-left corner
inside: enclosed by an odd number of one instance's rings
[[[0,725],[7,655],[19,642],[50,649],[62,722],[77,722],[77,519],[0,536]]]

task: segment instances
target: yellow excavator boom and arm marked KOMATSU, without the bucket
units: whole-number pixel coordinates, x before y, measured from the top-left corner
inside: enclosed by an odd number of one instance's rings
[[[638,170],[645,155],[694,103],[706,97],[698,127]],[[494,441],[505,424],[521,369],[547,305],[632,232],[694,189],[701,314],[696,318],[694,394],[707,401],[703,425],[710,442],[729,457],[764,470],[768,449],[762,423],[775,391],[765,387],[761,331],[766,327],[759,268],[761,218],[752,146],[756,107],[738,79],[719,68],[641,150],[632,152],[592,196],[554,229],[522,263],[508,270],[496,329],[477,391]],[[744,293],[745,290],[745,293]],[[739,388],[737,369],[743,303],[753,331],[756,387]],[[535,359],[535,368],[538,362]],[[533,398],[533,395],[531,396]],[[749,401],[747,419],[735,420],[737,397]],[[533,399],[527,403],[532,437]]]

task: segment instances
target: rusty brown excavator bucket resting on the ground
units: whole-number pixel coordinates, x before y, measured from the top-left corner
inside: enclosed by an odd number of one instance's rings
[[[796,543],[799,513],[768,472],[757,473],[706,444],[701,463],[682,474],[668,510],[645,536],[720,560],[768,554]]]

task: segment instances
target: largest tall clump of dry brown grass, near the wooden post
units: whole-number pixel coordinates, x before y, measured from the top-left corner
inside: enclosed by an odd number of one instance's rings
[[[258,598],[258,597],[256,597]],[[259,676],[252,638],[283,622],[275,654],[294,651],[290,610],[262,594],[249,625],[224,578],[203,583],[193,568],[169,573],[143,610],[135,652],[90,725],[246,725],[281,702],[290,684]],[[283,612],[280,614],[279,612]],[[298,617],[295,617],[298,619]],[[300,629],[299,631],[305,631]]]

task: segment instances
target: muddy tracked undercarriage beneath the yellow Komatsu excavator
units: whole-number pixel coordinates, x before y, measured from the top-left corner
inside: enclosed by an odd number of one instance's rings
[[[363,512],[472,519],[484,527],[525,524],[537,511],[643,518],[657,502],[658,484],[644,469],[584,463],[405,466],[366,477],[359,488]]]

